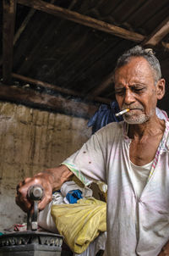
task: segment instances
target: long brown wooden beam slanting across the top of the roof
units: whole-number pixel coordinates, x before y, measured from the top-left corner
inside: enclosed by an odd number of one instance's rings
[[[67,8],[61,8],[51,3],[46,3],[41,0],[18,0],[17,3],[29,6],[31,8],[38,9],[40,11],[46,12],[47,14],[52,14],[59,16],[63,19],[68,19],[79,23],[81,25],[89,26],[93,29],[104,31],[114,36],[119,36],[124,39],[134,41],[134,42],[142,42],[144,40],[144,36],[133,31],[125,30],[116,25],[108,24],[104,21],[91,18],[89,16],[85,16],[83,14],[76,13],[74,11],[68,10]]]

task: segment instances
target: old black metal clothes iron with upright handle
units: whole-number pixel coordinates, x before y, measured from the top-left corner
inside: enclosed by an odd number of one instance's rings
[[[34,201],[34,213],[27,214],[27,231],[0,236],[0,256],[60,256],[63,237],[37,231],[38,201],[44,195],[41,186],[31,186],[28,197]]]

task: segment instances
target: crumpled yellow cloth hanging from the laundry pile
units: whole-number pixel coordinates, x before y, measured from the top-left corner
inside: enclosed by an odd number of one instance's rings
[[[106,231],[106,203],[95,198],[52,205],[51,214],[57,230],[74,253],[83,253],[101,231]]]

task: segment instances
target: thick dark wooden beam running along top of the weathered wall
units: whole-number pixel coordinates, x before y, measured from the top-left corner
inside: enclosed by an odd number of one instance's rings
[[[0,83],[0,100],[89,119],[98,106]]]

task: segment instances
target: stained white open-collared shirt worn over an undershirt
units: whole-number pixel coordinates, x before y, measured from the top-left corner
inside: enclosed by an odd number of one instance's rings
[[[129,175],[130,143],[126,123],[111,123],[63,164],[86,186],[92,181],[107,184],[108,256],[157,256],[169,240],[169,122],[139,198]]]

